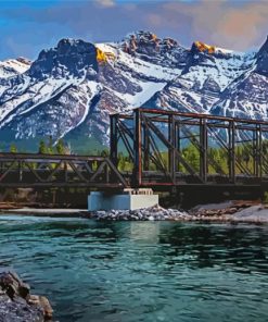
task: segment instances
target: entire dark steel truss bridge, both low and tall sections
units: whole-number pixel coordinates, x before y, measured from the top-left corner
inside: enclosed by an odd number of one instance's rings
[[[260,187],[266,138],[268,122],[136,109],[111,115],[110,157],[0,153],[0,187]]]

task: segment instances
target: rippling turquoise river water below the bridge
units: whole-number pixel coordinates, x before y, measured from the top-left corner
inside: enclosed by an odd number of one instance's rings
[[[0,268],[61,322],[267,322],[267,225],[0,216]]]

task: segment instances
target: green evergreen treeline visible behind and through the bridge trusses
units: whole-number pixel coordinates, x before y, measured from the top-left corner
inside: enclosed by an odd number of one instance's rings
[[[10,152],[17,152],[17,148],[14,144],[10,146]],[[39,147],[37,150],[38,153],[41,154],[72,154],[69,147],[63,141],[63,139],[59,139],[55,144],[53,144],[52,138],[48,138],[46,140],[39,141]],[[109,157],[110,151],[109,149],[103,150],[93,150],[88,151],[88,156],[101,156],[101,157]],[[243,173],[243,169],[246,169],[250,173],[254,172],[254,156],[256,154],[255,148],[252,143],[247,143],[244,145],[239,145],[234,149],[235,154],[235,173],[240,174]],[[261,145],[261,154],[263,159],[268,160],[268,140],[264,140]],[[188,146],[181,149],[181,156],[184,161],[196,172],[200,171],[200,151],[193,145],[189,144]],[[161,163],[163,166],[168,169],[168,152],[159,152],[158,156],[153,154],[154,159],[161,159]],[[144,152],[143,152],[144,158]],[[133,169],[133,162],[131,158],[124,153],[119,152],[117,156],[117,166],[118,170],[122,172],[131,172]],[[265,163],[265,162],[264,162]],[[225,173],[228,174],[229,172],[229,156],[228,151],[224,148],[219,147],[209,147],[207,149],[207,170],[208,173]],[[268,162],[267,162],[268,165]],[[149,162],[149,170],[156,171],[161,170],[159,166],[156,166],[155,163],[152,161],[152,158]],[[187,173],[187,170],[182,165],[182,163],[178,162],[177,171]]]

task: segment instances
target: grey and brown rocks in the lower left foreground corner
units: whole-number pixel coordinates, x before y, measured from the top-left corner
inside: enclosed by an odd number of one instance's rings
[[[44,296],[31,295],[30,287],[15,273],[0,273],[0,321],[52,321],[53,310]]]

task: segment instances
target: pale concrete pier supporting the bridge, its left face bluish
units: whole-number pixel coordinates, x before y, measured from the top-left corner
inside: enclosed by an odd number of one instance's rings
[[[136,210],[158,205],[158,195],[152,189],[125,189],[122,194],[92,191],[88,196],[88,210]]]

